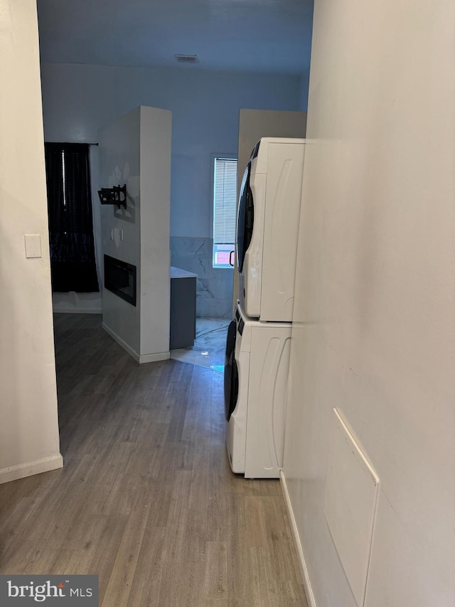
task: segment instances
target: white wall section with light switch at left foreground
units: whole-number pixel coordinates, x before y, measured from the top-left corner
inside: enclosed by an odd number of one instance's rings
[[[63,465],[38,62],[35,1],[0,0],[0,482]]]

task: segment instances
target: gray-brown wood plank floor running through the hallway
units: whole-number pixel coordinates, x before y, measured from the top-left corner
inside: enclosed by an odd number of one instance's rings
[[[0,485],[1,574],[98,574],[103,607],[304,606],[277,480],[230,471],[223,374],[137,364],[56,315],[62,470]]]

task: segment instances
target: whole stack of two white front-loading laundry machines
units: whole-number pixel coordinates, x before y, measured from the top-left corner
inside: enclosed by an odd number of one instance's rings
[[[226,343],[225,417],[232,472],[248,478],[279,477],[283,463],[305,144],[260,139],[240,189],[240,289]]]

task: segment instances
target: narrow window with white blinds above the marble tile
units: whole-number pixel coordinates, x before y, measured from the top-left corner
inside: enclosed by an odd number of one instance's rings
[[[231,268],[237,211],[237,159],[213,159],[213,268]],[[233,258],[233,254],[232,254]]]

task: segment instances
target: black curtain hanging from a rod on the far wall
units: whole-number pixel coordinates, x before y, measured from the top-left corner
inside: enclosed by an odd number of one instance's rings
[[[46,143],[45,171],[52,290],[99,291],[88,144]]]

